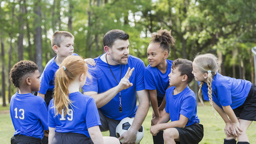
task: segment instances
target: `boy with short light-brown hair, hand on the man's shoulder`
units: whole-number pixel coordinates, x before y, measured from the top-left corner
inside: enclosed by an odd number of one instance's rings
[[[45,65],[41,79],[41,88],[38,92],[38,96],[41,96],[45,99],[47,106],[49,105],[50,100],[53,96],[54,91],[54,75],[58,70],[59,65],[67,56],[73,56],[74,54],[74,36],[67,31],[58,31],[55,32],[52,36],[51,41],[52,49],[56,52],[56,56]],[[95,65],[92,58],[85,59],[88,64]]]

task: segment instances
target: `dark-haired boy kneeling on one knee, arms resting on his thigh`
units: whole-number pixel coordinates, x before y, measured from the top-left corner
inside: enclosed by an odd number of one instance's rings
[[[204,136],[195,93],[188,87],[193,80],[191,71],[192,61],[179,58],[172,63],[168,75],[172,87],[166,90],[166,113],[150,128],[152,135],[164,130],[165,144],[198,144]]]

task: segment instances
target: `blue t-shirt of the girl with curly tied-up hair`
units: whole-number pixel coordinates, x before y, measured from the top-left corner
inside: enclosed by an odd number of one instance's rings
[[[167,70],[163,74],[157,67],[148,65],[144,71],[144,83],[146,90],[157,90],[157,96],[163,98],[169,86],[168,74],[171,72],[172,60],[166,59]]]

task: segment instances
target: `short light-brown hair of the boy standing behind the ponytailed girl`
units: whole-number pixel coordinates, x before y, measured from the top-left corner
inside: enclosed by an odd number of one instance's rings
[[[70,32],[67,32],[67,31],[57,31],[52,36],[52,41],[51,41],[52,47],[54,45],[57,45],[58,47],[60,47],[60,43],[63,41],[63,36],[70,37],[70,38],[72,38],[74,40],[74,36]]]

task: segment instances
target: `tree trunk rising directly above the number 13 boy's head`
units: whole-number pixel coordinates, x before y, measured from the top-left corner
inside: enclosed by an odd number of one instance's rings
[[[24,20],[23,20],[23,15],[25,14],[25,7],[22,3],[23,0],[20,0],[20,16],[19,16],[19,36],[18,36],[18,59],[19,61],[23,60],[23,51],[24,51],[24,46],[23,46],[23,37],[24,37]],[[23,1],[24,3],[24,1]]]

